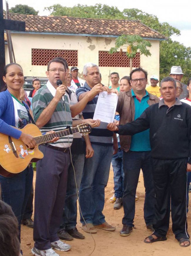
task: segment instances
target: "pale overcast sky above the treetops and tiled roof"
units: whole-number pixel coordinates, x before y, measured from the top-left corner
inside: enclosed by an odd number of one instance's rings
[[[97,3],[108,4],[108,0],[73,0],[73,1],[63,1],[63,0],[46,0],[46,1],[29,1],[29,0],[8,0],[9,8],[15,6],[16,4],[27,4],[33,7],[36,11],[39,11],[39,15],[48,15],[47,11],[43,11],[44,7],[51,6],[53,4],[61,4],[62,6],[72,7],[79,4],[95,5]],[[137,0],[137,1],[127,1],[123,4],[122,1],[109,1],[110,6],[117,6],[121,11],[125,8],[138,8],[149,14],[154,14],[158,17],[160,22],[168,22],[170,25],[180,29],[181,36],[172,37],[172,40],[179,41],[185,46],[191,47],[191,1],[190,0],[160,0],[158,2],[153,0]],[[154,4],[153,4],[154,3]],[[5,0],[3,0],[3,7],[6,8]]]

